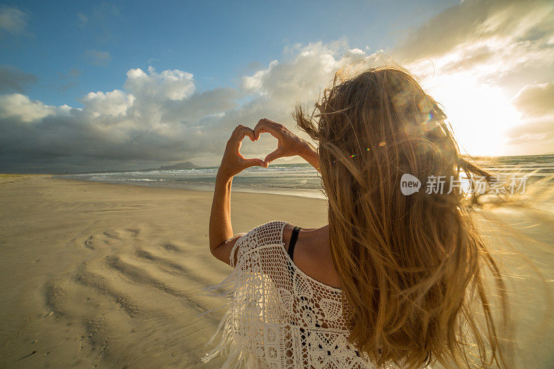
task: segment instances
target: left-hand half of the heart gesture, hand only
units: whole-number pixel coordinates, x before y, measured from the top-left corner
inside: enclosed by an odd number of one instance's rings
[[[244,125],[238,125],[231,134],[229,141],[227,141],[220,170],[217,172],[218,175],[231,178],[235,176],[235,174],[242,172],[246,168],[253,167],[254,165],[260,167],[265,166],[262,159],[245,159],[244,156],[240,154],[240,146],[245,136],[249,136],[251,141],[256,141],[256,136],[252,129],[244,127]]]

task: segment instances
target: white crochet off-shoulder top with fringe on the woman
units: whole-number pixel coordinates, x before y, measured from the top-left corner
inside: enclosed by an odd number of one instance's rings
[[[219,345],[202,360],[223,354],[224,368],[375,368],[348,343],[341,289],[310,278],[290,259],[285,224],[242,235],[231,251],[235,269],[208,287],[219,295],[227,290],[229,310],[217,329]]]

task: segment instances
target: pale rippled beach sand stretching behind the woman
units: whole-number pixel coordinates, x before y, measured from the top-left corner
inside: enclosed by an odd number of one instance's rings
[[[1,368],[217,368],[202,364],[221,298],[202,287],[231,268],[208,251],[211,192],[120,186],[49,176],[0,177]],[[274,219],[325,224],[325,201],[233,193],[235,233]],[[520,367],[554,367],[544,285],[553,284],[554,222],[504,212],[546,244],[503,256],[513,289]],[[537,226],[533,226],[538,224]],[[490,233],[497,237],[498,233]],[[545,318],[546,317],[546,318]]]

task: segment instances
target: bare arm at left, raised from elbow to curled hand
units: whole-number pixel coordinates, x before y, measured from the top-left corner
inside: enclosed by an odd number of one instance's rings
[[[242,139],[249,136],[255,141],[254,132],[239,125],[227,142],[225,153],[215,177],[212,210],[210,215],[210,251],[215,258],[229,264],[231,249],[238,236],[233,235],[231,226],[231,185],[235,174],[253,165],[265,166],[261,159],[244,159],[240,154]]]

